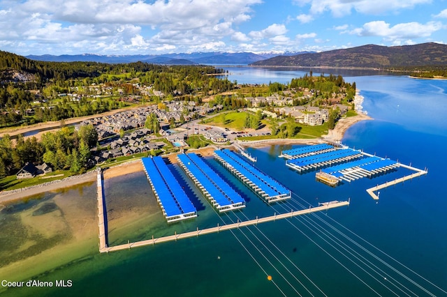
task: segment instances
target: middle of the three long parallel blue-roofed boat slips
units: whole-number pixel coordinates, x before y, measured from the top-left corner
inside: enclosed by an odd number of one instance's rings
[[[245,207],[244,199],[195,153],[177,155],[184,172],[219,212]]]

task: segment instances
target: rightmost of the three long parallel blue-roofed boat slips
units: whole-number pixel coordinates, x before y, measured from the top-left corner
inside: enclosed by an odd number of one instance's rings
[[[233,151],[228,149],[214,151],[214,156],[224,167],[240,178],[241,181],[268,203],[291,198],[290,190],[250,165]]]

